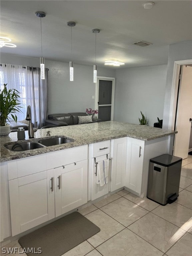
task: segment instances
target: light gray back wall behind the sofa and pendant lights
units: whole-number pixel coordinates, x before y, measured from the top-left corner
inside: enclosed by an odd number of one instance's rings
[[[21,57],[1,54],[1,63],[39,67],[39,58]],[[45,67],[49,68],[49,114],[85,112],[93,108],[95,100],[95,84],[93,83],[93,66],[74,64],[74,81],[69,81],[69,63],[45,59]],[[115,77],[115,70],[97,68],[98,76]]]

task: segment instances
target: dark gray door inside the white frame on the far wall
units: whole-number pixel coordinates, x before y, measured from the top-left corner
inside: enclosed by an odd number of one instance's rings
[[[111,120],[112,81],[99,80],[98,118],[102,121]]]

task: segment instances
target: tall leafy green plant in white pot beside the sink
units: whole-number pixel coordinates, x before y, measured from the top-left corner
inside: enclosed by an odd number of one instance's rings
[[[4,84],[3,90],[0,89],[0,136],[7,136],[10,131],[10,124],[7,121],[17,122],[16,113],[20,111],[20,93],[16,89],[7,89]],[[10,118],[10,116],[12,118]]]

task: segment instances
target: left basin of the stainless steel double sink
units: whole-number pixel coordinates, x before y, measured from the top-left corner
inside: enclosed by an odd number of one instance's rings
[[[44,148],[45,146],[43,146],[37,142],[30,141],[30,142],[5,145],[4,147],[6,147],[7,149],[9,149],[11,151],[26,151],[26,150],[30,150],[30,149]]]

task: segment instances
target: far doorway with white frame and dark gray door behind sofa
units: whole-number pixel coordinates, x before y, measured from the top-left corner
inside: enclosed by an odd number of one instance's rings
[[[98,118],[103,121],[113,121],[115,78],[97,77],[95,86],[95,108]]]

